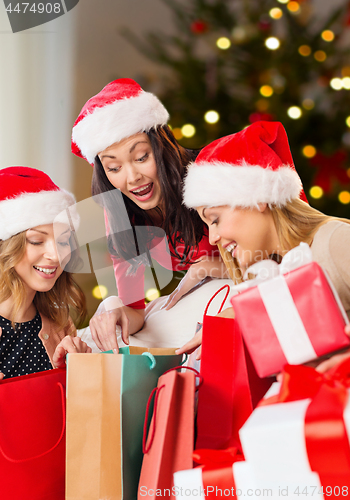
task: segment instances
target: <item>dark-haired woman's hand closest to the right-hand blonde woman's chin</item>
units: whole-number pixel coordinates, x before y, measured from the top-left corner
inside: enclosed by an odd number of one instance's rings
[[[227,278],[227,269],[220,257],[206,257],[192,264],[177,288],[169,295],[162,309],[171,309],[187,292],[207,276]]]

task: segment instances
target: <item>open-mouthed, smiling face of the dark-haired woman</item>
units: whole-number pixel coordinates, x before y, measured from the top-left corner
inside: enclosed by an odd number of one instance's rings
[[[157,165],[147,134],[136,134],[99,153],[110,183],[143,210],[161,202]]]

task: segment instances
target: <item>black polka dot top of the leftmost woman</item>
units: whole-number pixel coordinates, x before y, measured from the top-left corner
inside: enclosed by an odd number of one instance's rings
[[[51,370],[50,358],[39,338],[41,317],[16,324],[13,329],[11,321],[0,316],[0,371],[5,378],[18,377],[28,373]]]

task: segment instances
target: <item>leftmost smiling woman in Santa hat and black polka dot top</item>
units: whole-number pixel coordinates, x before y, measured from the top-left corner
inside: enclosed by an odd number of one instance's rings
[[[70,259],[70,228],[53,221],[73,195],[28,167],[0,170],[0,378],[65,364],[67,352],[91,352],[76,337],[70,308],[85,298],[60,266]]]

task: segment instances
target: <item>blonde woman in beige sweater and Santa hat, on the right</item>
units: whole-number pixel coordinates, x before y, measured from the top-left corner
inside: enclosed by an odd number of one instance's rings
[[[206,146],[189,166],[184,203],[207,224],[210,243],[221,245],[235,283],[255,262],[279,261],[308,243],[350,318],[350,221],[307,203],[281,123],[256,122]],[[178,352],[193,350],[200,340],[199,334]]]

